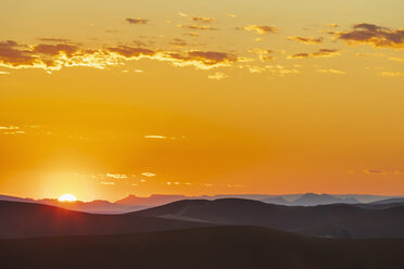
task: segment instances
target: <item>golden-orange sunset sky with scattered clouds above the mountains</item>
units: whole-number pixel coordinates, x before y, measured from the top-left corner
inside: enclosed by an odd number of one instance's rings
[[[1,194],[403,194],[403,1],[0,10]]]

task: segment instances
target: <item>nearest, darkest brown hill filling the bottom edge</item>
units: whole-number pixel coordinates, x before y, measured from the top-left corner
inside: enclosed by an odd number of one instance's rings
[[[404,240],[306,238],[256,227],[0,240],[1,268],[399,269]]]

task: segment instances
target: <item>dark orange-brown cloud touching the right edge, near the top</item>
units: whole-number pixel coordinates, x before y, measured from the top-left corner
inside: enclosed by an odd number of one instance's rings
[[[375,24],[355,24],[352,30],[337,31],[333,36],[349,46],[370,43],[375,48],[404,48],[404,29],[391,29]]]

